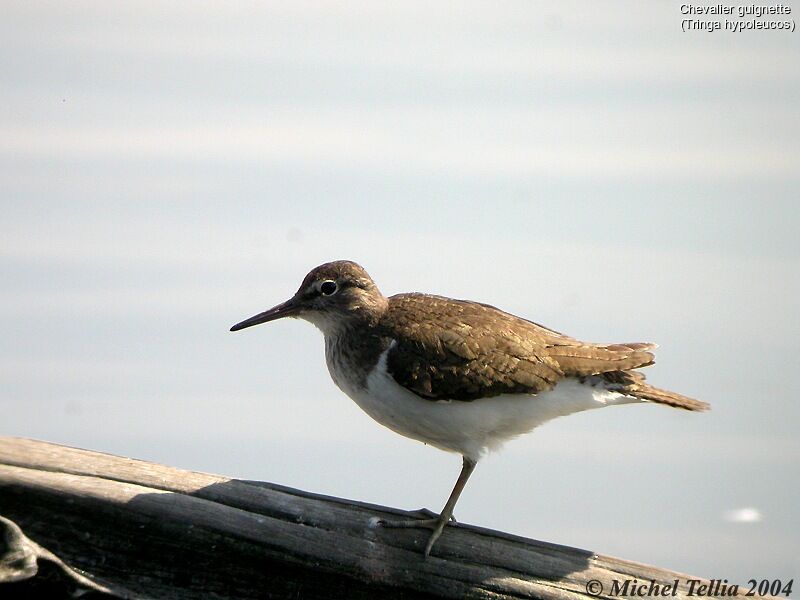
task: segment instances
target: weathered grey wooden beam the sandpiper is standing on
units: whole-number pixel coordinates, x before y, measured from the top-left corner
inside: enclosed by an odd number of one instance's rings
[[[0,437],[0,598],[570,600],[591,580],[607,598],[614,579],[686,579],[463,524],[423,559],[427,531],[375,526],[407,514]]]

